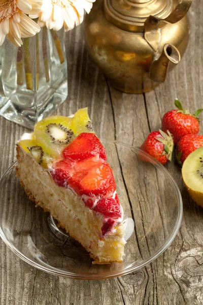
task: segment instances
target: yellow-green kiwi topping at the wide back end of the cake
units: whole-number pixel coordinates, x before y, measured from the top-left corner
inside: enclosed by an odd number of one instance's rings
[[[69,117],[53,115],[42,119],[29,139],[22,139],[18,144],[46,167],[60,159],[62,150],[82,132],[93,132],[87,108],[79,109]]]

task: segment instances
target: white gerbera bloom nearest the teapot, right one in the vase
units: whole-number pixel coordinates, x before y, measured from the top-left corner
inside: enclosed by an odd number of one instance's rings
[[[95,0],[43,0],[41,12],[31,18],[39,17],[38,24],[58,31],[64,26],[65,31],[82,23],[84,10],[89,13]]]

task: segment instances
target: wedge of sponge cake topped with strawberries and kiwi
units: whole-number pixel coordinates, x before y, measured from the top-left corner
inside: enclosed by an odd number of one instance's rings
[[[87,108],[41,120],[17,143],[17,175],[30,200],[78,240],[93,263],[122,262],[123,211]]]

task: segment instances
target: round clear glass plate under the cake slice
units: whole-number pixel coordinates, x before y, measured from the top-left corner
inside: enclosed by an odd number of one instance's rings
[[[175,238],[183,207],[180,191],[170,173],[139,148],[102,142],[114,172],[124,219],[134,220],[131,232],[129,226],[125,228],[126,235],[132,234],[125,245],[123,262],[93,265],[85,249],[58,228],[49,213],[28,199],[13,164],[0,180],[0,235],[30,265],[72,279],[108,279],[149,264]]]

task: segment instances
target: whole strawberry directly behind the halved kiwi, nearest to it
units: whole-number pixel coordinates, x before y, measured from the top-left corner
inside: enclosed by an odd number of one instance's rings
[[[182,137],[176,148],[176,159],[180,166],[183,165],[183,162],[192,153],[192,151],[201,146],[203,146],[202,135],[185,135]]]

